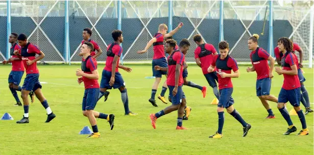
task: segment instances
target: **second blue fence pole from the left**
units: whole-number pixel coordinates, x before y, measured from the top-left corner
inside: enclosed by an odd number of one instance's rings
[[[65,62],[69,63],[71,65],[71,62],[69,60],[70,55],[70,44],[69,44],[69,2],[68,0],[65,1],[65,8],[64,8],[64,16],[65,16],[65,23],[64,23],[64,54],[63,57],[65,57]]]

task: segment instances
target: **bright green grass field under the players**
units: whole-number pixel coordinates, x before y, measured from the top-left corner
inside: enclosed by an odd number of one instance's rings
[[[99,65],[101,75],[104,65]],[[214,95],[201,69],[189,65],[188,80],[208,86],[206,98],[201,91],[184,86],[187,105],[192,107],[189,120],[183,125],[189,130],[176,130],[177,112],[158,119],[153,129],[149,114],[165,108],[166,104],[157,100],[158,107],[148,102],[154,79],[151,66],[130,65],[132,73],[120,71],[126,82],[129,106],[138,116],[124,116],[124,107],[118,90],[111,90],[106,102],[101,99],[95,110],[115,114],[115,126],[109,129],[107,121],[98,119],[101,132],[99,139],[86,139],[79,135],[80,130],[90,126],[82,115],[83,85],[77,84],[75,76],[79,65],[39,65],[42,92],[57,117],[44,123],[46,112],[36,99],[30,105],[30,123],[16,124],[22,118],[23,108],[15,107],[15,100],[8,88],[10,65],[0,68],[1,108],[0,116],[10,113],[14,120],[0,120],[0,154],[313,154],[313,113],[306,115],[310,135],[298,137],[283,136],[287,123],[279,113],[276,103],[270,103],[276,119],[266,120],[267,111],[256,97],[256,73],[247,73],[240,67],[240,77],[233,79],[234,107],[252,125],[247,137],[242,137],[243,129],[239,122],[225,112],[222,139],[209,139],[218,128],[216,105],[210,105]],[[313,103],[313,70],[305,71],[305,84]],[[26,74],[24,74],[23,79]],[[271,94],[278,96],[283,76],[274,74]],[[164,81],[163,79],[162,81]],[[23,81],[23,80],[22,80]],[[100,80],[99,80],[100,81]],[[22,82],[21,84],[22,85]],[[157,95],[161,91],[161,85]],[[20,94],[20,93],[18,93]],[[168,91],[167,93],[168,94]],[[157,99],[157,96],[156,96]],[[20,99],[21,100],[21,99]],[[311,104],[313,106],[313,104]],[[304,110],[303,105],[301,105]],[[287,104],[288,110],[293,107]],[[298,116],[291,116],[294,124],[301,130]]]

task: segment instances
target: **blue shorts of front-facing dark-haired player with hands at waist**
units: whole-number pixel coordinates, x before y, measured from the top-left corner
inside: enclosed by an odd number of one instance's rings
[[[219,90],[219,102],[218,107],[228,108],[229,106],[233,105],[234,100],[232,98],[233,88],[224,88]]]

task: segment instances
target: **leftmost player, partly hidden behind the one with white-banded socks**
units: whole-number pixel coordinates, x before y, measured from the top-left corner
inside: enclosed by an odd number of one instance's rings
[[[2,63],[3,64],[12,63],[12,70],[9,74],[8,79],[9,88],[16,101],[16,104],[14,106],[22,106],[22,103],[20,102],[16,91],[19,92],[22,91],[22,88],[19,86],[19,83],[21,82],[25,69],[22,62],[22,58],[20,57],[21,47],[17,43],[17,37],[18,37],[17,33],[11,33],[11,35],[9,36],[9,42],[11,43],[10,55],[12,57],[9,58],[8,61],[4,60]],[[14,55],[14,52],[18,54]],[[30,97],[33,103],[35,97],[34,92],[30,92]]]

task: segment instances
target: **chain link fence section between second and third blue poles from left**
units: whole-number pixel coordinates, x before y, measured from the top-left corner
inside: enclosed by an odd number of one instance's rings
[[[70,61],[81,61],[79,47],[84,28],[90,28],[90,39],[104,52],[98,61],[107,58],[107,46],[112,42],[111,31],[117,27],[116,1],[69,1]]]

